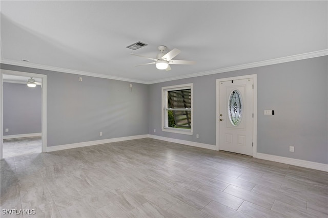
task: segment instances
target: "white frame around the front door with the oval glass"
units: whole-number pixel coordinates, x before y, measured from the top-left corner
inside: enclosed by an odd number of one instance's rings
[[[238,79],[253,79],[253,158],[256,158],[257,154],[257,74],[235,76],[228,78],[221,78],[216,80],[216,150],[219,150],[219,112],[220,112],[220,99],[219,99],[219,83],[230,80]]]

